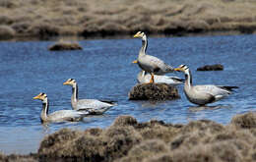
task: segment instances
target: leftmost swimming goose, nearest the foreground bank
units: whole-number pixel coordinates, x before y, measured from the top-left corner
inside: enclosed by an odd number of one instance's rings
[[[45,93],[39,93],[38,95],[34,96],[33,99],[39,99],[42,102],[42,110],[40,114],[41,123],[44,122],[64,122],[64,121],[79,121],[85,117],[87,112],[78,112],[75,110],[59,110],[55,111],[51,114],[48,114],[49,110],[49,101],[47,95]]]

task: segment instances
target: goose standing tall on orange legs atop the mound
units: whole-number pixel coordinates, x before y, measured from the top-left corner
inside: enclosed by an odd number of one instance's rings
[[[138,31],[133,37],[142,38],[142,48],[139,52],[137,60],[139,67],[142,70],[151,74],[150,82],[154,82],[154,75],[164,75],[166,73],[173,72],[173,68],[165,64],[162,60],[155,56],[146,54],[146,50],[148,47],[148,39],[147,35],[144,32]]]

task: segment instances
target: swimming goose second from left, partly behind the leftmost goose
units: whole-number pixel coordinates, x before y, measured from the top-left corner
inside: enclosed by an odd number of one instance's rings
[[[78,99],[78,83],[74,79],[68,79],[63,84],[72,86],[71,106],[74,110],[86,110],[90,111],[90,114],[99,115],[116,105],[113,101]]]

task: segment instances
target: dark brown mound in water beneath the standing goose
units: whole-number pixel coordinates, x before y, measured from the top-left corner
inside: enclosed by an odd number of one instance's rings
[[[130,100],[172,100],[180,98],[178,89],[166,83],[140,83],[132,87]]]

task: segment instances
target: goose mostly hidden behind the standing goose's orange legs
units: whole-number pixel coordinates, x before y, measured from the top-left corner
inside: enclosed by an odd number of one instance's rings
[[[141,71],[138,76],[137,76],[137,81],[139,83],[147,83],[150,82],[151,80],[151,75],[145,71]],[[183,83],[183,79],[177,78],[177,77],[171,77],[171,76],[154,76],[154,80],[156,83],[167,83],[170,85],[178,85]]]

